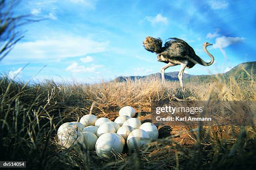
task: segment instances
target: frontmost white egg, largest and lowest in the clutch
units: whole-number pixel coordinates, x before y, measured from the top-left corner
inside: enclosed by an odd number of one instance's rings
[[[119,135],[120,136],[120,135]],[[102,134],[95,146],[96,153],[99,157],[110,158],[113,155],[123,152],[123,140],[116,133]]]

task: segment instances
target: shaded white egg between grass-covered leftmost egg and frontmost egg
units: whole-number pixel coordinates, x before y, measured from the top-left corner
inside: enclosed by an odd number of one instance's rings
[[[95,145],[98,137],[92,132],[82,132],[80,143],[85,145],[87,150],[95,150]]]

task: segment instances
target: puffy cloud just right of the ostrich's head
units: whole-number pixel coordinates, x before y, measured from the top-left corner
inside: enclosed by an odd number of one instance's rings
[[[215,44],[213,44],[212,48],[225,48],[230,46],[231,44],[241,43],[244,41],[243,37],[226,37],[222,36],[215,39]]]

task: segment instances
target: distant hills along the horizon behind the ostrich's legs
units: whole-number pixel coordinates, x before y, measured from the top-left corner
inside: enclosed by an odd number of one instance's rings
[[[222,77],[223,79],[227,79],[230,76],[234,76],[235,78],[241,77],[241,78],[247,79],[248,74],[242,68],[244,68],[253,77],[256,76],[256,61],[238,64],[238,66],[233,67],[233,69],[231,69],[230,71],[227,71],[223,74],[218,74],[218,76]],[[178,74],[179,74],[178,71],[169,72],[169,73],[165,73],[164,77],[168,81],[179,81]],[[132,81],[134,81],[136,79],[145,80],[145,79],[150,79],[152,77],[161,79],[161,73],[149,74],[147,76],[119,76],[116,79],[114,79],[114,81],[122,82],[122,81],[127,81],[129,79],[131,79]],[[183,75],[184,82],[212,81],[214,79],[216,79],[215,75],[197,75],[197,76],[195,76],[195,75],[185,74],[185,73]]]

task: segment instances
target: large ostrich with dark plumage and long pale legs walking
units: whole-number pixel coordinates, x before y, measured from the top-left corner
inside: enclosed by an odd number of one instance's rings
[[[158,61],[167,63],[166,66],[161,68],[162,84],[165,83],[164,70],[170,66],[181,65],[178,78],[180,86],[183,87],[182,76],[185,68],[190,69],[197,63],[201,64],[202,66],[210,66],[214,61],[212,54],[210,54],[206,49],[207,46],[212,45],[210,43],[203,43],[205,53],[207,53],[211,58],[211,61],[206,63],[202,60],[202,58],[196,55],[193,48],[185,41],[179,38],[168,38],[167,40],[164,47],[162,47],[161,38],[146,37],[146,39],[143,41],[143,46],[147,51],[156,53],[158,55]]]

